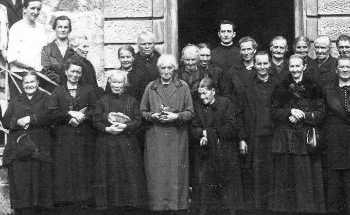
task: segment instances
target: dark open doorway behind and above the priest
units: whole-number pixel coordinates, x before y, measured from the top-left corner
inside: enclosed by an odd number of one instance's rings
[[[271,39],[284,36],[292,51],[294,40],[294,1],[291,0],[178,0],[179,53],[188,43],[220,44],[218,24],[228,19],[236,25],[234,44],[250,35],[268,50]]]

